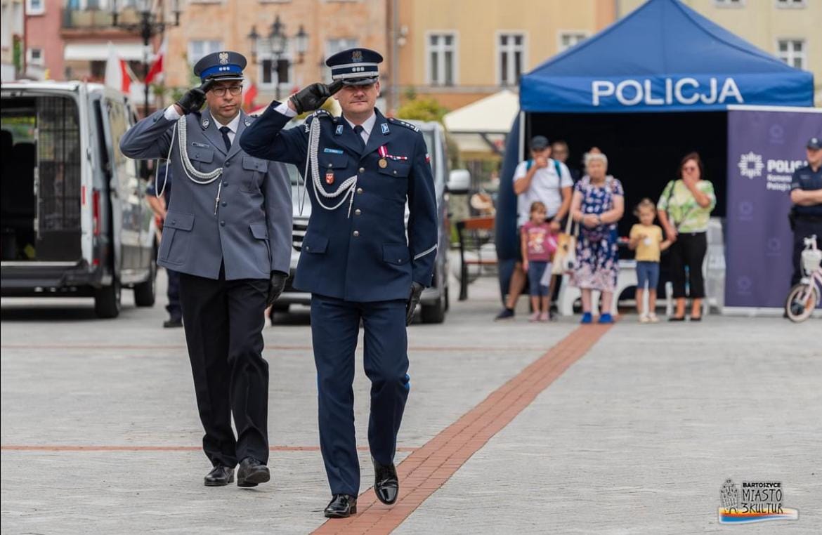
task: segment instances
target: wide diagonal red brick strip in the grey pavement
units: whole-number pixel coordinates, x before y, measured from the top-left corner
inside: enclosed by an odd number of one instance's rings
[[[397,465],[399,500],[382,505],[371,488],[357,500],[358,514],[332,519],[314,533],[390,533],[403,523],[473,454],[506,427],[522,410],[580,359],[610,325],[584,325],[562,339],[542,357],[488,395]]]

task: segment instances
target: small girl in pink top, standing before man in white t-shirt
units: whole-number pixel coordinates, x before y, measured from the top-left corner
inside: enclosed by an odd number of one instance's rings
[[[556,234],[545,222],[545,205],[534,201],[530,219],[522,226],[522,269],[528,274],[533,314],[530,321],[548,321],[548,286],[543,285],[543,276],[556,251]]]

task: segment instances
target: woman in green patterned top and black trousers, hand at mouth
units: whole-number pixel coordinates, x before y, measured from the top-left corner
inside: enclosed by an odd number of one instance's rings
[[[667,239],[673,242],[670,249],[671,279],[677,310],[670,321],[685,320],[686,266],[691,298],[690,321],[702,319],[702,299],[705,297],[702,262],[708,250],[705,233],[711,210],[717,204],[713,184],[702,180],[703,172],[700,155],[695,152],[686,155],[679,164],[679,178],[667,183],[657,203],[659,222],[663,224]]]

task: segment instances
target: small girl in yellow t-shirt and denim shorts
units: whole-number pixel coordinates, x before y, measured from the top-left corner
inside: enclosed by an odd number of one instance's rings
[[[650,199],[643,199],[636,205],[634,215],[639,224],[630,228],[628,247],[636,250],[636,310],[640,323],[659,321],[654,312],[657,307],[657,284],[659,284],[659,253],[671,247],[669,240],[663,241],[663,229],[653,224],[656,205]],[[648,284],[648,310],[643,309],[645,284]]]

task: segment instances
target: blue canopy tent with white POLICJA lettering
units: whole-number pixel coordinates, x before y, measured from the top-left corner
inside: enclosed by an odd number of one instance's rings
[[[697,150],[723,203],[727,106],[813,106],[813,88],[810,72],[787,66],[679,0],[649,0],[534,68],[520,81],[521,112],[501,173],[496,247],[502,293],[515,256],[511,182],[531,136],[567,141],[571,164],[598,146],[608,155],[609,173],[626,187],[626,207],[644,196],[658,198],[681,157]]]

